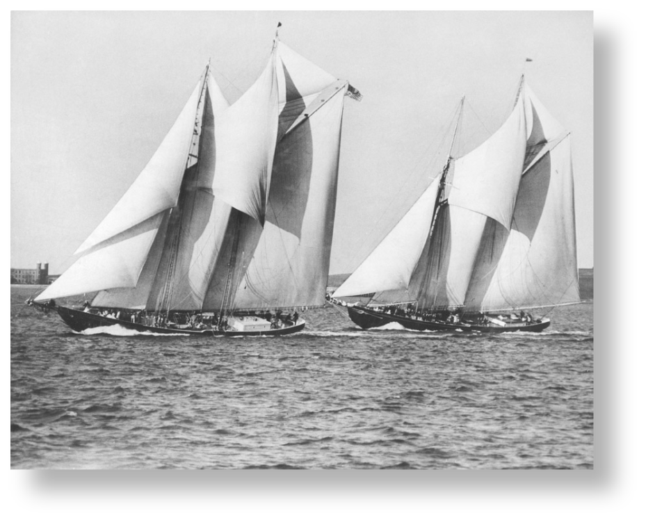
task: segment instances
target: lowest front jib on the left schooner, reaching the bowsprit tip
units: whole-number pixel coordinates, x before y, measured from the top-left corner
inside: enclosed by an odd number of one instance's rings
[[[36,301],[136,286],[163,213],[99,243],[83,254]]]

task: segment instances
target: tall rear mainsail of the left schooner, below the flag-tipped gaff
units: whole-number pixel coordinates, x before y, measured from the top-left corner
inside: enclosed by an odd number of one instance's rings
[[[325,303],[344,93],[277,146],[267,220],[236,293],[238,309]]]

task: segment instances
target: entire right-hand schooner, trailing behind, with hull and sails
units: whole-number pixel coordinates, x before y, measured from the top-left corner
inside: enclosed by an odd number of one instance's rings
[[[449,152],[330,301],[363,328],[482,332],[540,332],[550,321],[530,310],[579,302],[570,133],[524,77],[501,128],[465,156]]]

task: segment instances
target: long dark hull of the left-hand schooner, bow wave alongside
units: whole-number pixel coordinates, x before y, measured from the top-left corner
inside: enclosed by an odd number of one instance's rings
[[[131,323],[120,319],[113,319],[104,316],[97,316],[95,313],[88,313],[81,310],[74,310],[66,307],[55,307],[58,315],[69,325],[75,332],[83,332],[88,328],[96,328],[100,326],[119,325],[129,330],[136,332],[152,333],[152,334],[184,334],[184,335],[199,335],[199,336],[224,336],[224,337],[241,337],[241,336],[260,336],[260,335],[286,335],[300,332],[305,327],[305,322],[298,323],[284,328],[275,328],[268,330],[259,330],[257,332],[237,332],[234,330],[220,331],[214,329],[184,329],[184,328],[163,328],[155,326],[140,325],[138,323]]]

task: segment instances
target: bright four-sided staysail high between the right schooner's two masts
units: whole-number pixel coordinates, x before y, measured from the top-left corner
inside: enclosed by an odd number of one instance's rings
[[[480,147],[455,161],[449,203],[488,215],[510,229],[526,147],[524,104]]]

